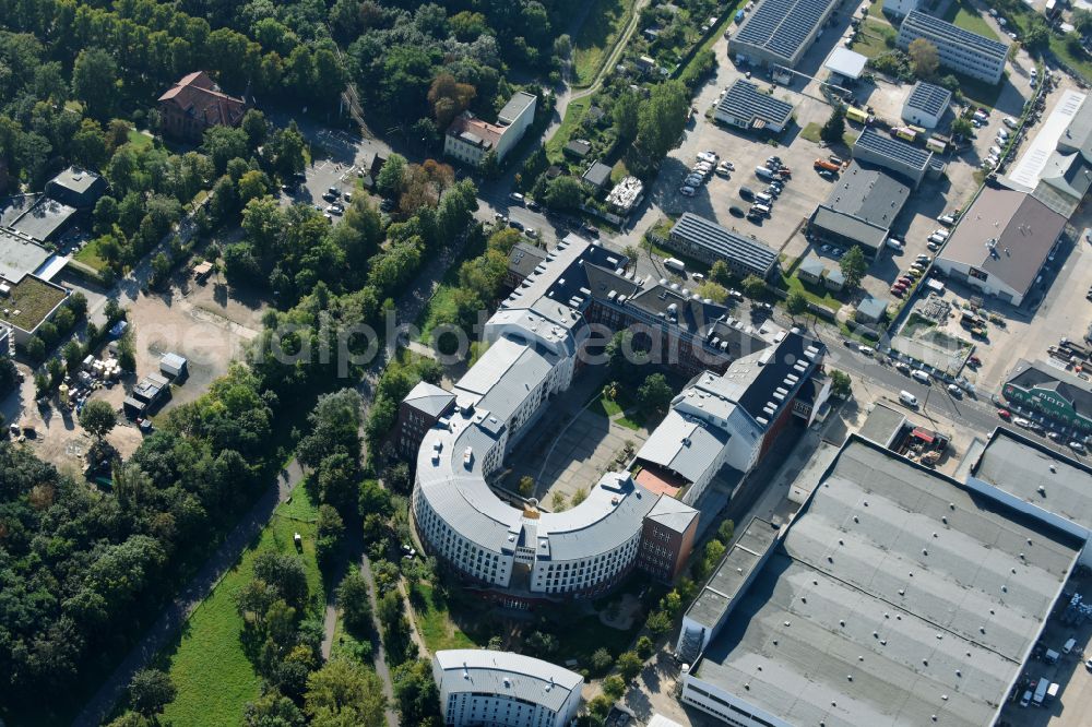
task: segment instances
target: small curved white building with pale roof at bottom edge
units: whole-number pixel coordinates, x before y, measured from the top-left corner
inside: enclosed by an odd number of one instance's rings
[[[584,684],[549,662],[472,648],[437,652],[432,677],[449,727],[563,727],[577,716]]]

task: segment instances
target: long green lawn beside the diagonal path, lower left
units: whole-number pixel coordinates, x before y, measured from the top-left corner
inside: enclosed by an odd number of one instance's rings
[[[159,655],[178,688],[178,698],[163,717],[174,727],[241,723],[246,703],[260,694],[261,683],[242,652],[239,639],[242,618],[235,608],[235,595],[250,582],[258,553],[295,553],[293,534],[304,538],[304,564],[311,591],[310,616],[323,610],[322,579],[314,560],[317,508],[304,487],[297,487],[292,502],[282,504],[258,539],[244,552],[212,594],[198,606],[176,642]]]

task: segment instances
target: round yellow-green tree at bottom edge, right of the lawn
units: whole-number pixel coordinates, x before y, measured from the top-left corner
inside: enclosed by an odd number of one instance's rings
[[[334,658],[307,678],[304,712],[318,727],[381,727],[387,695],[375,671],[345,658]]]

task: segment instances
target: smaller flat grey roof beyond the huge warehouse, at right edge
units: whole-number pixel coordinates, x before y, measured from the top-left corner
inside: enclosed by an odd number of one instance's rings
[[[1004,427],[995,429],[971,474],[1024,502],[1092,529],[1092,469],[1018,432]]]

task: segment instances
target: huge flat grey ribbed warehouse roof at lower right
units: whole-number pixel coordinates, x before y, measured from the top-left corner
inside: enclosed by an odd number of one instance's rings
[[[990,725],[1079,548],[853,436],[692,679],[793,725]]]

